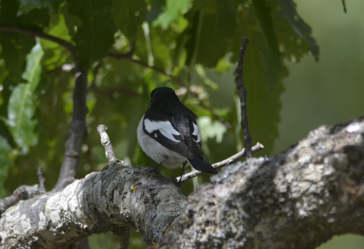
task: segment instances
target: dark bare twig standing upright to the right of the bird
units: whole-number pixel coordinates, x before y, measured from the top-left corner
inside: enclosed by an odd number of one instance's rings
[[[238,61],[238,66],[235,71],[235,80],[236,80],[236,88],[239,91],[240,96],[240,110],[241,110],[241,127],[244,132],[244,143],[246,148],[246,158],[252,157],[252,135],[249,133],[248,128],[248,115],[246,112],[246,89],[244,87],[243,81],[243,66],[244,66],[244,55],[246,46],[248,45],[249,40],[245,37],[241,39],[241,47],[240,47],[240,57]]]

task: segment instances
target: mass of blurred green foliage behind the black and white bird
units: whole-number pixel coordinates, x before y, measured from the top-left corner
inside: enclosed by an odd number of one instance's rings
[[[249,128],[253,143],[265,146],[256,155],[271,154],[288,76],[284,62],[299,62],[307,54],[317,60],[319,54],[291,0],[1,0],[0,30],[5,25],[70,42],[90,72],[88,136],[78,178],[107,163],[99,124],[108,127],[118,158],[134,166],[156,165],[139,148],[135,133],[158,86],[179,90],[184,104],[200,117],[203,152],[211,163],[242,149],[232,72],[243,36],[250,40],[244,63]],[[124,56],[115,59],[110,52]],[[58,43],[0,31],[1,197],[21,184],[35,184],[39,167],[47,189],[54,187],[72,117],[74,72],[65,70],[72,63],[70,51]],[[186,87],[194,94],[186,94]],[[180,170],[161,172],[178,176]],[[189,193],[208,178],[184,183],[183,189]],[[110,236],[93,237],[93,246],[112,248],[103,244]],[[135,248],[138,243],[131,242]]]

